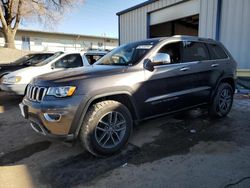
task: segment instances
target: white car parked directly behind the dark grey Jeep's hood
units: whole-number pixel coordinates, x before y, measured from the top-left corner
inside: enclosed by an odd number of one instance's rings
[[[4,91],[14,92],[17,95],[24,95],[26,86],[33,78],[54,71],[82,66],[90,66],[84,53],[57,52],[34,66],[3,76],[0,88]]]

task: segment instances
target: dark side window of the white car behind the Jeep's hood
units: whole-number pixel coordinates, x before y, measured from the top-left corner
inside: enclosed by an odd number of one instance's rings
[[[55,68],[75,68],[83,66],[80,54],[70,54],[59,59],[55,63]]]

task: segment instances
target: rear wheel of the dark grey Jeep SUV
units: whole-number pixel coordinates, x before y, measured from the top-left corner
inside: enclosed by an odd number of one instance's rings
[[[209,115],[214,118],[225,117],[231,110],[234,91],[228,83],[221,83],[209,107]]]

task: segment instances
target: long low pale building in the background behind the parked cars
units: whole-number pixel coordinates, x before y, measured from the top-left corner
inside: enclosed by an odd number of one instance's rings
[[[0,48],[4,45],[4,37],[0,28]],[[18,29],[15,36],[16,49],[33,52],[86,51],[89,49],[112,50],[117,45],[117,38],[26,29]]]

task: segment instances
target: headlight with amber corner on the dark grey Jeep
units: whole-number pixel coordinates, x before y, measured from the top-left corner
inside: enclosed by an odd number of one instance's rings
[[[75,90],[75,86],[50,87],[47,91],[47,95],[55,97],[70,97],[74,94]]]

